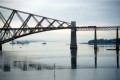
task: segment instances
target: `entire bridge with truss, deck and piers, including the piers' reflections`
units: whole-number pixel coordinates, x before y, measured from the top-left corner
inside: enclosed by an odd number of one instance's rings
[[[6,13],[5,13],[6,12]],[[9,14],[10,13],[10,14]],[[8,16],[6,18],[6,16]],[[21,23],[17,25],[16,18]],[[45,16],[40,16],[8,7],[0,6],[0,51],[2,51],[2,44],[15,40],[27,35],[59,30],[59,29],[71,29],[71,68],[76,69],[76,56],[77,40],[76,31],[94,31],[94,51],[95,51],[95,67],[97,67],[97,31],[116,30],[116,58],[117,67],[119,68],[119,43],[118,43],[118,31],[120,26],[76,26],[76,22],[66,22],[57,20]],[[35,25],[28,25],[30,22],[35,22]],[[12,24],[15,24],[14,26]],[[74,51],[73,51],[74,49]]]

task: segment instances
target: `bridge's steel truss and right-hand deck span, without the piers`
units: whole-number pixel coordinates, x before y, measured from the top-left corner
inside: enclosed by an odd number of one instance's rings
[[[6,14],[5,13],[8,13]],[[6,16],[7,19],[6,19]],[[19,24],[18,27],[16,25],[16,18],[18,18]],[[6,43],[11,40],[27,36],[34,33],[50,31],[50,30],[58,30],[58,29],[72,29],[71,23],[66,21],[61,21],[49,17],[39,16],[36,14],[23,12],[7,7],[0,6],[0,43]],[[35,22],[34,26],[30,27],[29,22]],[[75,25],[76,26],[76,25]],[[91,31],[91,30],[116,30],[120,29],[120,26],[77,26],[76,31]]]

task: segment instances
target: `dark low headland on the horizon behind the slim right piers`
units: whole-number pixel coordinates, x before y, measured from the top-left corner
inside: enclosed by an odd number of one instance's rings
[[[87,44],[93,45],[94,40],[89,40]],[[120,44],[120,38],[118,39],[118,43]],[[116,44],[116,39],[97,39],[97,44],[98,45],[111,45],[111,44]]]

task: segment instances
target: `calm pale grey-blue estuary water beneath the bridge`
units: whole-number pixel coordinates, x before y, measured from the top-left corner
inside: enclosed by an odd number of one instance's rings
[[[119,80],[115,45],[99,45],[94,68],[94,46],[78,44],[77,69],[71,69],[69,43],[42,42],[3,45],[0,56],[0,80]],[[3,66],[9,65],[10,71]]]

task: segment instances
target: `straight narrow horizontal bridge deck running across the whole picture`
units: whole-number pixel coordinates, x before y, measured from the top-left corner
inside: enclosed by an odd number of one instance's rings
[[[97,30],[116,30],[120,29],[120,26],[111,26],[111,27],[96,27]],[[42,27],[42,28],[0,28],[0,30],[39,30],[39,29],[48,29],[48,30],[56,30],[56,29],[71,29],[71,27]],[[76,27],[77,31],[91,31],[94,30],[95,27],[92,26],[84,26],[84,27]]]

